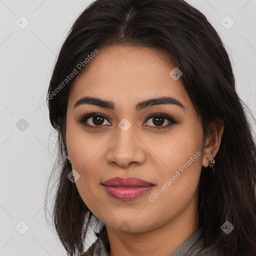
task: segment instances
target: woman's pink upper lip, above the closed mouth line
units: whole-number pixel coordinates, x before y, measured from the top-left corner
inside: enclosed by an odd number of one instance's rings
[[[102,182],[103,185],[106,186],[150,186],[153,183],[150,183],[146,180],[136,178],[136,177],[128,177],[128,178],[121,178],[121,177],[114,177],[105,180]]]

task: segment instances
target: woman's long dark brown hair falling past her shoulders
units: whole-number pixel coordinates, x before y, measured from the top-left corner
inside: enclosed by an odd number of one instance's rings
[[[231,256],[255,255],[256,145],[246,116],[252,113],[235,91],[230,59],[220,36],[206,17],[184,0],[95,0],[75,20],[61,46],[47,103],[58,142],[52,170],[57,174],[52,219],[68,255],[83,252],[88,228],[92,223],[97,226],[99,219],[67,178],[71,166],[66,161],[66,109],[74,78],[65,79],[74,68],[78,74],[86,69],[85,58],[108,45],[161,50],[182,71],[179,79],[204,134],[208,123],[222,120],[224,131],[214,172],[209,167],[201,169],[199,226],[203,227],[205,247],[214,245]],[[47,198],[48,193],[45,205]],[[234,226],[228,235],[220,228],[226,220]],[[105,226],[97,234],[109,250]]]

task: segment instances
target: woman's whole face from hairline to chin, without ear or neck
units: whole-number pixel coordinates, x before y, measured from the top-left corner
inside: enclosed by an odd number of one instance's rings
[[[87,63],[70,91],[66,147],[80,175],[75,184],[91,212],[112,228],[151,230],[179,216],[198,196],[203,132],[180,80],[169,74],[173,68],[156,50],[108,46]],[[77,102],[82,97],[110,102]],[[161,97],[169,99],[139,104]],[[103,185],[113,177],[151,185]]]

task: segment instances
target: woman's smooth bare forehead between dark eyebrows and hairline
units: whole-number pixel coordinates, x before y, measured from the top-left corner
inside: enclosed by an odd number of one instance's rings
[[[166,54],[137,46],[107,46],[90,59],[76,77],[69,95],[111,99],[115,105],[134,105],[154,96],[172,96],[187,107],[188,95],[181,81],[169,74],[174,68]]]

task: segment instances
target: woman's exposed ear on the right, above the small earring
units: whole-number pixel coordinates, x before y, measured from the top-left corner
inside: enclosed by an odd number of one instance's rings
[[[221,137],[224,131],[224,124],[222,120],[213,120],[207,129],[207,134],[204,138],[204,148],[203,148],[203,160],[202,166],[208,167],[209,160],[214,158],[219,149]]]

